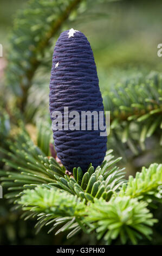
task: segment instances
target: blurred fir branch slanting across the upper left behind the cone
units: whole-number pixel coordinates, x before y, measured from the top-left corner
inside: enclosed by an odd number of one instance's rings
[[[27,8],[17,14],[10,35],[7,76],[22,111],[27,103],[31,81],[44,57],[44,50],[80,2],[30,0]]]

